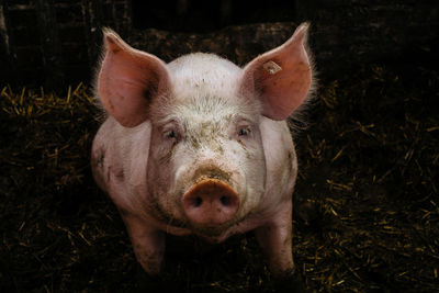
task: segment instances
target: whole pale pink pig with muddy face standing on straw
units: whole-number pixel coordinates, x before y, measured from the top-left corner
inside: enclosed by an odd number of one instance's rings
[[[161,270],[166,234],[215,244],[249,230],[272,275],[294,273],[288,119],[313,88],[307,31],[243,68],[205,53],[166,64],[103,31],[95,88],[108,117],[91,168],[148,274]]]

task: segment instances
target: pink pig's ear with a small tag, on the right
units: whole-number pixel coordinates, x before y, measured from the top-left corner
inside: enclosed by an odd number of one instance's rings
[[[305,100],[312,83],[312,66],[305,49],[308,24],[296,29],[283,45],[255,58],[244,68],[243,90],[259,97],[262,115],[290,116]]]

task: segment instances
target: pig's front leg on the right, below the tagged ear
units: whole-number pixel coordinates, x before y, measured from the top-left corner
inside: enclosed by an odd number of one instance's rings
[[[289,201],[268,224],[256,229],[279,292],[305,292],[301,275],[294,268],[292,221],[292,202]]]

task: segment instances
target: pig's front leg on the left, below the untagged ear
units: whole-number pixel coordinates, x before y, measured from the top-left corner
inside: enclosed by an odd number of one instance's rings
[[[137,261],[147,273],[158,274],[165,255],[165,234],[148,226],[145,219],[137,216],[122,213],[122,217],[128,229]]]

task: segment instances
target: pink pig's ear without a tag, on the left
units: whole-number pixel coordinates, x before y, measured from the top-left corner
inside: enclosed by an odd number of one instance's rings
[[[169,90],[169,74],[157,57],[130,47],[104,30],[105,57],[98,77],[103,108],[119,123],[134,127],[147,119],[151,99]]]

